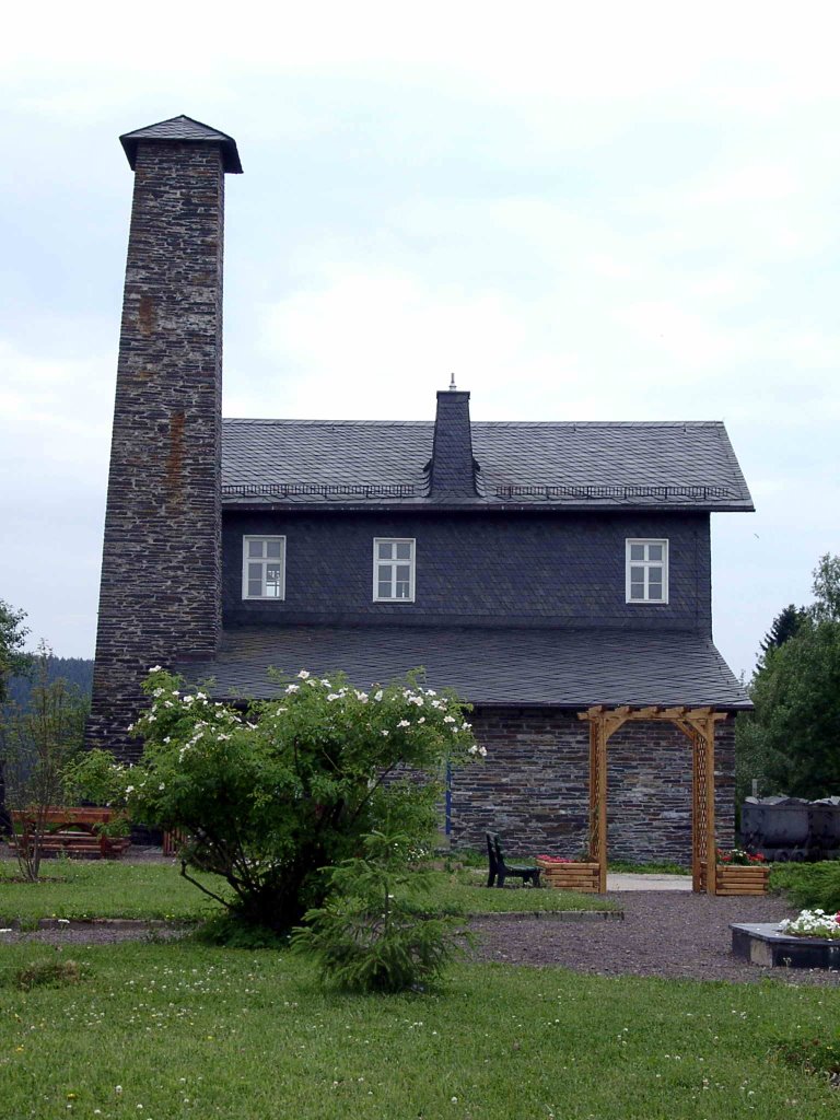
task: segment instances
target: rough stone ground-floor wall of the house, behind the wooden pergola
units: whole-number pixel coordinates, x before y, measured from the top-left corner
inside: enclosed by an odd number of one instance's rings
[[[588,727],[575,712],[548,709],[476,710],[484,764],[456,772],[451,842],[484,848],[487,830],[511,852],[577,856],[587,842]],[[735,819],[735,731],[716,735],[718,843],[730,846]],[[668,724],[627,724],[608,746],[608,852],[636,862],[691,862],[691,750]]]

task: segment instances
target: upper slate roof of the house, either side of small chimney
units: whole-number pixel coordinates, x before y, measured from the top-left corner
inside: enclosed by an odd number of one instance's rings
[[[225,505],[427,505],[431,421],[224,420]],[[459,505],[752,510],[718,421],[472,424]]]

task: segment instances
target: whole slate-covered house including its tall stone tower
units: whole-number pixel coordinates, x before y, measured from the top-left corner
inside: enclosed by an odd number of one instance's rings
[[[454,777],[454,842],[495,825],[575,855],[580,712],[749,706],[711,636],[710,514],[753,507],[722,424],[476,422],[455,388],[433,420],[222,420],[236,146],[184,116],[121,139],[136,187],[91,740],[137,750],[153,663],[220,698],[271,694],[269,665],[358,687],[423,666],[475,706],[488,752]],[[716,728],[726,842],[731,719]],[[688,860],[681,731],[628,722],[608,757],[610,851]]]

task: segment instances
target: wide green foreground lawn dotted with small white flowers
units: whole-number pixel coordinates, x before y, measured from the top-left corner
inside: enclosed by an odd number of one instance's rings
[[[81,949],[20,991],[0,958],[2,1114],[143,1120],[790,1120],[838,1094],[774,1056],[825,1037],[840,992],[458,965],[435,995],[348,997],[286,953]]]

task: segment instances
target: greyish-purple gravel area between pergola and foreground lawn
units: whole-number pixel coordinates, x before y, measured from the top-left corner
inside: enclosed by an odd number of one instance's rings
[[[659,890],[608,897],[624,909],[623,922],[477,918],[476,956],[505,964],[559,964],[599,976],[736,982],[772,976],[791,983],[840,987],[837,971],[764,969],[731,955],[730,922],[780,922],[795,915],[777,897],[711,898]]]

